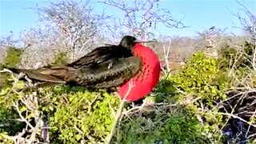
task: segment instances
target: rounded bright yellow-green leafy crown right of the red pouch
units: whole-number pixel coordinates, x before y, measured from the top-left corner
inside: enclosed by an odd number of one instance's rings
[[[170,77],[174,86],[194,98],[200,98],[205,106],[214,106],[214,102],[226,98],[225,90],[229,78],[220,71],[214,58],[206,58],[202,53],[194,54],[180,73]],[[185,101],[186,97],[179,98]]]

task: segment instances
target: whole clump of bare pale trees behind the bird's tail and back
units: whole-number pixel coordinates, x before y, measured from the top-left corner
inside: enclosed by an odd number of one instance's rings
[[[72,62],[98,45],[101,39],[98,26],[104,14],[93,13],[90,1],[54,1],[37,7],[37,27],[22,33],[26,49],[22,67],[38,67],[50,64],[59,51],[66,52]]]

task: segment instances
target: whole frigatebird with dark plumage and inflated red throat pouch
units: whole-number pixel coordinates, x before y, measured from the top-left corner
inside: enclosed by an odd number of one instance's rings
[[[118,45],[100,46],[66,66],[44,66],[37,70],[8,68],[26,74],[36,82],[86,86],[118,87],[121,98],[137,101],[157,85],[160,75],[158,56],[136,38],[126,35]],[[133,87],[129,90],[130,82]]]

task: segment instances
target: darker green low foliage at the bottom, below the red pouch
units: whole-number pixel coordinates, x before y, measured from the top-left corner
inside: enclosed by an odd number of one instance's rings
[[[115,142],[208,143],[207,138],[202,136],[204,127],[189,111],[162,108],[161,111],[144,112],[130,117],[123,120]]]

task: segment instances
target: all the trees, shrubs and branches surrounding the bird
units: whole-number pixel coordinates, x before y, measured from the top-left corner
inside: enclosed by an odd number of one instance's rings
[[[42,21],[49,24],[46,29],[31,28],[19,42],[11,36],[2,38],[0,143],[255,143],[255,14],[241,5],[247,17],[235,15],[244,36],[230,36],[214,27],[199,32],[198,38],[157,38],[150,33],[150,22],[186,26],[170,12],[160,13],[158,0],[152,2],[137,3],[138,9],[133,9],[104,1],[124,12],[120,23],[112,16],[93,14],[87,1],[53,2],[38,8]],[[146,20],[133,19],[149,9],[158,13],[145,13]],[[111,31],[116,26],[128,32]],[[126,103],[120,115],[115,93],[80,86],[34,89],[20,81],[21,75],[2,70],[64,65],[96,46],[117,43],[123,34],[158,40],[149,46],[161,59],[162,77],[142,104]]]

